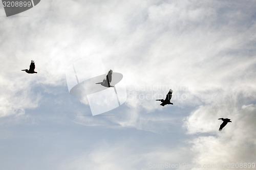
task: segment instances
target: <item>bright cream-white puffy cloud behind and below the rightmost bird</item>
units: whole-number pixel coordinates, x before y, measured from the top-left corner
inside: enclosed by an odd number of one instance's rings
[[[233,108],[232,108],[233,107]],[[255,105],[243,105],[242,108],[225,103],[222,106],[200,107],[187,118],[189,134],[210,133],[210,136],[195,137],[191,141],[191,150],[195,153],[195,164],[217,164],[250,162],[255,159]],[[219,117],[228,117],[223,131],[218,128],[222,121]]]

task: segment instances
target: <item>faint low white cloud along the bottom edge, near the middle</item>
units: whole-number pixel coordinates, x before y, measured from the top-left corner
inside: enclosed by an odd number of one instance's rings
[[[190,161],[191,153],[186,148],[180,147],[177,150],[153,147],[142,151],[138,148],[140,144],[130,138],[119,143],[98,142],[92,151],[69,160],[65,167],[67,169],[150,169],[160,164],[172,165]]]

